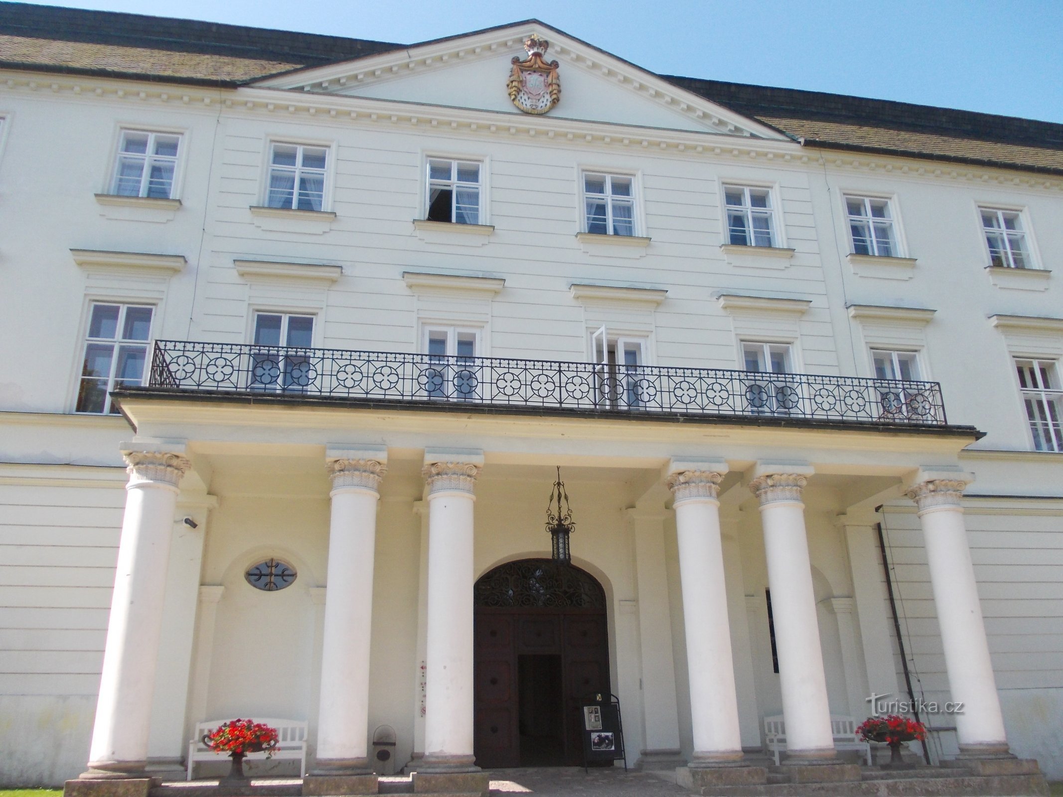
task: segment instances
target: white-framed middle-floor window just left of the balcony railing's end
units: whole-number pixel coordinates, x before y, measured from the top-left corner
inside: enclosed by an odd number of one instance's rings
[[[117,413],[111,391],[144,381],[154,310],[144,305],[92,303],[77,412]]]

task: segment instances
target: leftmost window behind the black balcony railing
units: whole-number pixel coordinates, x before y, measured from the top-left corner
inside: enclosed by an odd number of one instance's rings
[[[252,352],[251,390],[306,392],[317,376],[308,351],[314,343],[313,316],[259,312],[255,316],[254,343],[285,349]]]

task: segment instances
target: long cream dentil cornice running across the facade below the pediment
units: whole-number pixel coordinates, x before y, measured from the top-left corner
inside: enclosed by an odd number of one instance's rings
[[[778,141],[726,133],[657,130],[489,111],[418,105],[361,97],[296,94],[285,89],[204,88],[157,84],[116,78],[73,77],[47,72],[0,70],[0,88],[37,94],[43,98],[99,100],[153,105],[184,113],[230,113],[260,118],[316,118],[328,125],[383,124],[392,130],[435,129],[440,135],[494,138],[538,138],[543,143],[584,146],[593,149],[642,149],[655,155],[681,159],[752,163],[773,168],[802,170],[815,166],[832,171],[871,172],[908,180],[951,180],[979,185],[1017,187],[1024,190],[1063,190],[1063,179],[1007,167],[944,164],[904,155],[854,155],[826,149],[806,149],[795,141]]]

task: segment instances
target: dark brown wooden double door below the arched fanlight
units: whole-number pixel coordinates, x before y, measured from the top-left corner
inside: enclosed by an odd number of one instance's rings
[[[477,607],[476,764],[583,763],[581,706],[609,694],[604,607]]]

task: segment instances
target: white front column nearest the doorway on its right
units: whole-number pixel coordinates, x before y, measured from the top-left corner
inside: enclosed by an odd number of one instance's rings
[[[668,478],[675,495],[679,578],[687,633],[692,767],[741,761],[742,733],[731,658],[727,587],[720,537],[720,480],[726,463],[711,470],[676,470]]]

